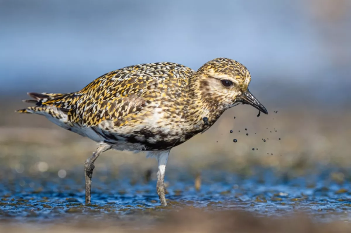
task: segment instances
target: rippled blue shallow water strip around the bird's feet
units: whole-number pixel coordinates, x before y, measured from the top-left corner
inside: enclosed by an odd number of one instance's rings
[[[211,210],[243,209],[259,215],[282,216],[303,211],[320,221],[351,219],[349,183],[333,179],[337,171],[313,175],[278,174],[257,168],[254,175],[202,171],[201,187],[194,187],[192,172],[169,171],[166,175],[167,207],[160,207],[155,174],[136,177],[133,170],[95,172],[92,204],[84,204],[84,176],[80,168],[60,179],[57,173],[16,174],[0,182],[0,220],[28,223],[67,222],[99,218],[158,219],[175,208]],[[10,177],[10,178],[9,178]]]

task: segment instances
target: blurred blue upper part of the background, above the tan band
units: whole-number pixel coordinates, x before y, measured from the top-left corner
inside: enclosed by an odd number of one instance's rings
[[[70,92],[132,64],[196,70],[228,57],[249,68],[261,98],[351,96],[349,0],[0,2],[2,94]]]

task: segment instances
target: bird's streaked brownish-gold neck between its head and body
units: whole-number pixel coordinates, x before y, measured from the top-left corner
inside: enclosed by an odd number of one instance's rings
[[[192,122],[204,127],[205,129],[213,125],[219,116],[225,111],[218,100],[205,90],[206,77],[197,72],[189,79],[188,101],[186,117]],[[204,118],[207,118],[205,121]]]

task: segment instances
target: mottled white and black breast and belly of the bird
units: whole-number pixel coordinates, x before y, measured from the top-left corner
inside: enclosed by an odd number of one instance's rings
[[[179,103],[154,101],[139,114],[124,118],[125,124],[122,126],[104,133],[112,144],[124,141],[142,145],[147,151],[169,149],[211,127],[213,117],[208,115],[206,121],[202,112],[188,114]]]

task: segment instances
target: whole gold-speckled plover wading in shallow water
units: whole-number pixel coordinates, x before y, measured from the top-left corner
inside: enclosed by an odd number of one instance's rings
[[[165,170],[173,147],[204,133],[229,108],[267,109],[249,91],[251,74],[240,62],[216,58],[197,71],[173,62],[127,66],[71,93],[27,93],[35,104],[16,112],[45,116],[97,142],[84,163],[85,202],[91,203],[94,161],[107,150],[146,151],[158,161],[156,191],[162,206]]]

